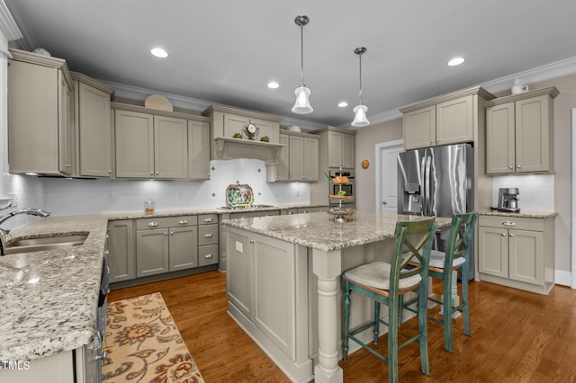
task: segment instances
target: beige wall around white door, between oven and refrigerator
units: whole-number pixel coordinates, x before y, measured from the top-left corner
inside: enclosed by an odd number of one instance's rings
[[[375,204],[375,152],[376,144],[402,139],[402,119],[391,120],[358,129],[356,133],[356,209],[374,211]],[[363,160],[370,166],[363,169]]]

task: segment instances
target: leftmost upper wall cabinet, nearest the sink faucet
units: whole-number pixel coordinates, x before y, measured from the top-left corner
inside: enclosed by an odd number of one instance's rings
[[[10,172],[74,174],[73,85],[66,61],[19,49],[10,53]]]

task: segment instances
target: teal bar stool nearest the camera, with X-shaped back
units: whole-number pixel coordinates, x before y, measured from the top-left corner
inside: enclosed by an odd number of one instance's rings
[[[368,352],[388,363],[389,381],[398,382],[398,351],[409,343],[420,345],[422,372],[428,375],[428,341],[426,321],[426,290],[428,280],[428,261],[432,240],[436,232],[435,218],[419,221],[398,222],[392,263],[367,263],[344,273],[344,339],[342,343],[343,360],[347,361],[348,341],[352,340]],[[402,254],[409,254],[402,259]],[[406,266],[413,259],[419,265]],[[419,333],[409,337],[408,341],[398,343],[398,317],[400,297],[410,291],[419,291]],[[374,321],[350,331],[350,293],[374,300]],[[388,306],[388,322],[380,318],[380,305]],[[373,348],[356,338],[356,334],[374,327],[374,343],[378,343],[379,325],[388,326],[388,357],[374,351]]]

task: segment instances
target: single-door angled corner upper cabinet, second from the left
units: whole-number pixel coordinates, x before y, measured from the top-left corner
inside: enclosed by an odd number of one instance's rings
[[[113,89],[72,72],[74,80],[76,174],[80,177],[112,177]]]

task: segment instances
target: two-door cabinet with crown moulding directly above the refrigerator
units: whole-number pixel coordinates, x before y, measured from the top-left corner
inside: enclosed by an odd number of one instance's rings
[[[401,108],[404,149],[474,141],[478,113],[483,102],[493,98],[482,87],[474,87]]]

